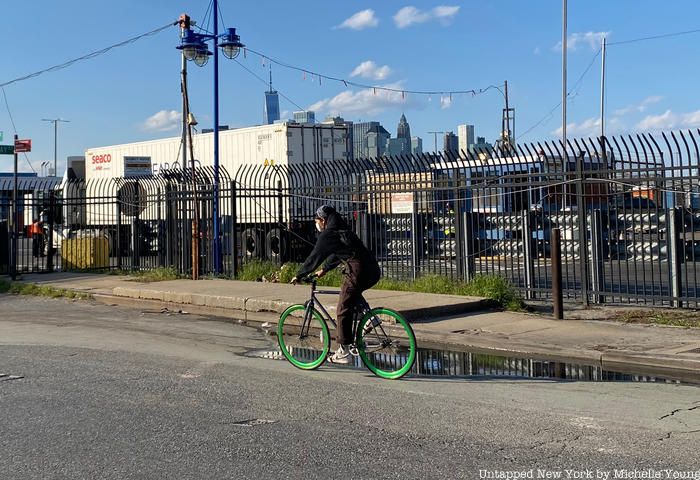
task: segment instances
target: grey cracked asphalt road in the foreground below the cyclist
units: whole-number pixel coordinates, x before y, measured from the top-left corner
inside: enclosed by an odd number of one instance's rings
[[[0,374],[23,376],[0,377],[2,479],[700,478],[697,387],[387,381],[248,356],[273,339],[195,315],[1,295],[0,312]]]

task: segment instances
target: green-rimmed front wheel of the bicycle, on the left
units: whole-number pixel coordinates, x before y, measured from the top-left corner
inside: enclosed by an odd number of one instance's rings
[[[323,365],[331,349],[328,325],[316,310],[304,320],[306,306],[292,305],[280,316],[277,324],[277,343],[289,362],[303,370]]]

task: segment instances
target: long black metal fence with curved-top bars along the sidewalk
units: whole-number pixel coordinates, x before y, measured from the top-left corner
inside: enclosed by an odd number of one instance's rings
[[[558,228],[566,298],[697,306],[699,134],[222,169],[221,273],[256,260],[303,260],[315,241],[313,212],[325,203],[348,218],[388,277],[497,274],[528,298],[548,298]],[[34,240],[20,235],[17,269],[186,273],[194,259],[211,273],[212,178],[199,168],[196,177],[69,181],[25,199],[52,247],[34,257]],[[0,271],[10,266],[2,248]]]

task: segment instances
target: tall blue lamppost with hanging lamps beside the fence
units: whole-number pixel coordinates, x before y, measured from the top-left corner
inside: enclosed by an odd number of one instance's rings
[[[219,35],[219,5],[214,2],[214,33],[196,33],[190,29],[189,22],[185,24],[185,32],[178,50],[182,50],[187,60],[193,61],[197,66],[203,67],[214,56],[214,273],[221,273],[221,240],[219,238],[219,55],[218,48],[226,58],[234,59],[238,56],[244,45],[241,37],[236,35],[235,28],[227,28],[226,33]],[[207,42],[213,41],[214,52],[209,51]],[[233,255],[236,252],[232,253]]]

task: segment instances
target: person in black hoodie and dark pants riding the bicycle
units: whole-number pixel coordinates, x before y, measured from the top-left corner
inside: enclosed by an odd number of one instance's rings
[[[339,347],[329,360],[347,365],[352,362],[350,346],[353,343],[352,322],[356,307],[360,304],[362,292],[376,285],[382,272],[374,254],[350,230],[335,208],[321,205],[316,210],[314,221],[316,230],[321,233],[291,283],[309,275],[321,262],[321,269],[315,273],[318,277],[343,264],[344,278],[337,307]]]

